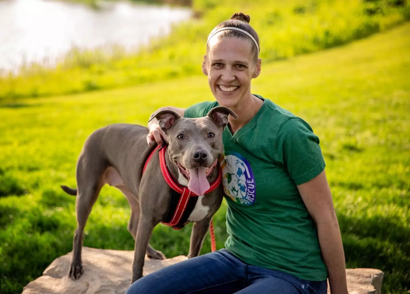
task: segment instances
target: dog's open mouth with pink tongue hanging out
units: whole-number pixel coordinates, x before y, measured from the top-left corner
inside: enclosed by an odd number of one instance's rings
[[[209,188],[208,178],[212,175],[218,159],[210,167],[200,166],[194,169],[187,169],[178,161],[176,162],[180,173],[188,180],[188,189],[196,195],[203,195]]]

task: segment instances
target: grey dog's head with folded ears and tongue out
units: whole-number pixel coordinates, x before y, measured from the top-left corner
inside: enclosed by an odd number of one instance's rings
[[[168,153],[180,173],[188,180],[188,188],[197,195],[209,189],[208,177],[223,153],[222,132],[228,115],[235,112],[217,106],[207,116],[188,119],[166,109],[155,114],[159,127],[168,137]]]

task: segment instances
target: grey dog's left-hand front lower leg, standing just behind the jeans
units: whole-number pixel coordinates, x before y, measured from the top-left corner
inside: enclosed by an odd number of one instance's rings
[[[145,253],[147,251],[148,243],[150,242],[151,234],[155,225],[156,223],[153,221],[152,217],[147,217],[142,213],[139,215],[137,235],[135,236],[131,284],[142,277]]]

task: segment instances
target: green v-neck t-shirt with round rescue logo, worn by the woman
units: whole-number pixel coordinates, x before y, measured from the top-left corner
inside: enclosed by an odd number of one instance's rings
[[[225,247],[247,264],[326,280],[317,228],[296,187],[325,168],[319,138],[302,119],[255,96],[264,102],[253,119],[222,136]],[[198,103],[184,116],[205,116],[215,106]]]

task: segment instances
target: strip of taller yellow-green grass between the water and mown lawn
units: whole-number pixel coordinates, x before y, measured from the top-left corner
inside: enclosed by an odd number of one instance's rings
[[[192,9],[200,18],[175,25],[169,36],[153,40],[139,53],[126,54],[118,46],[93,51],[73,48],[55,68],[22,66],[17,76],[0,77],[0,100],[199,74],[207,35],[237,11],[251,16],[265,62],[339,46],[410,19],[409,1],[397,0],[193,0]]]

